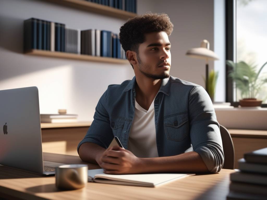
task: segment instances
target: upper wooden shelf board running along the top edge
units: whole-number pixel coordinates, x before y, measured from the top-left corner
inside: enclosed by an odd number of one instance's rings
[[[113,7],[101,5],[98,3],[88,2],[84,0],[45,0],[52,3],[57,3],[64,6],[69,6],[72,8],[85,10],[93,13],[98,13],[101,15],[108,15],[111,17],[117,17],[121,19],[129,19],[135,17],[136,13],[131,13],[125,10],[116,9]]]

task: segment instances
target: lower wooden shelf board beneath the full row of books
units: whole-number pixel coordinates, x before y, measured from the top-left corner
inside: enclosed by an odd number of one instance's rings
[[[82,60],[82,61],[93,61],[93,62],[108,62],[108,63],[117,63],[117,64],[128,64],[129,63],[127,59],[109,58],[109,57],[91,56],[91,55],[73,54],[73,53],[65,53],[65,52],[59,52],[59,51],[46,51],[46,50],[37,50],[37,49],[32,49],[31,51],[26,52],[25,54],[54,57],[54,58],[75,59],[75,60]]]

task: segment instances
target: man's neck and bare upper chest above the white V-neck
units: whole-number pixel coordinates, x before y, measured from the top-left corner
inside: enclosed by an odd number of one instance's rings
[[[158,94],[162,79],[136,77],[136,101],[145,110],[148,110],[154,98]]]

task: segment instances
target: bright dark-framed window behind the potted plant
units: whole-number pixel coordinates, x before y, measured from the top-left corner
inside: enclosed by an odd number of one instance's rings
[[[254,67],[256,74],[267,62],[266,7],[266,0],[226,0],[226,59],[235,63],[244,61]],[[226,66],[226,74],[229,71]],[[265,79],[267,64],[258,76],[257,85]],[[254,94],[263,100],[262,107],[267,107],[267,83]],[[241,95],[233,80],[226,76],[226,101],[238,106],[242,98],[248,97]]]

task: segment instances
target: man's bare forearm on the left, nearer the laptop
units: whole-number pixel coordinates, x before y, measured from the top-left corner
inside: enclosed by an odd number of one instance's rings
[[[95,143],[85,142],[80,146],[78,153],[83,161],[99,164],[96,159],[99,158],[105,150],[106,149]]]

